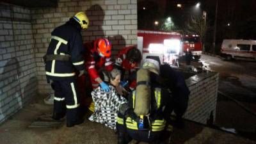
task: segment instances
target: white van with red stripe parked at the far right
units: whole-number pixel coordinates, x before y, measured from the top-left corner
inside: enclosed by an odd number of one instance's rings
[[[223,60],[241,58],[256,60],[256,40],[223,40],[221,57]]]

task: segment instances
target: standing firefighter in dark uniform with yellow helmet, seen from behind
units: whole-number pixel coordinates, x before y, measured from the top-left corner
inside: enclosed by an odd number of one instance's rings
[[[83,122],[79,112],[79,93],[76,76],[83,75],[84,58],[81,29],[88,28],[84,12],[55,28],[44,56],[47,81],[52,81],[54,109],[52,118],[59,120],[67,115],[67,127]]]

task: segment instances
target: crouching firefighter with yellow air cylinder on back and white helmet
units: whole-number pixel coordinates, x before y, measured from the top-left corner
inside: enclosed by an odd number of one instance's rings
[[[164,120],[163,109],[170,96],[160,83],[159,62],[146,59],[136,77],[136,90],[129,95],[129,102],[122,104],[118,113],[118,144],[129,143],[132,139],[168,143],[172,125]]]

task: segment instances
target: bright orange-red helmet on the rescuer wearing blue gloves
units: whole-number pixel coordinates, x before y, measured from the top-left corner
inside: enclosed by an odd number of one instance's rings
[[[108,41],[107,38],[99,38],[95,40],[95,45],[98,51],[106,57],[111,56],[111,43]]]

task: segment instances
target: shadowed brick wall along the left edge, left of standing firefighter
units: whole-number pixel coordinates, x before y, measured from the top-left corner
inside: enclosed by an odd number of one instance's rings
[[[0,123],[36,96],[30,10],[0,3]]]

